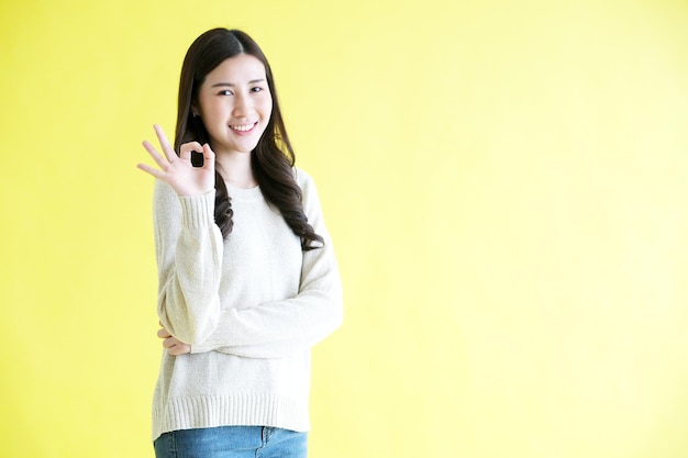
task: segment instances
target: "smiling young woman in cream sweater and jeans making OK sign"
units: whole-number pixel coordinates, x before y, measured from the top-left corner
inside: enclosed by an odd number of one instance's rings
[[[199,36],[181,68],[174,147],[154,190],[165,347],[160,457],[306,457],[310,348],[340,326],[342,288],[312,179],[268,62],[245,33]]]

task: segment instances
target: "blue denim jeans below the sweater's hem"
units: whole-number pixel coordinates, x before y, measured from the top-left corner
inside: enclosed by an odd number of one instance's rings
[[[308,433],[264,426],[220,426],[165,433],[156,458],[306,458]]]

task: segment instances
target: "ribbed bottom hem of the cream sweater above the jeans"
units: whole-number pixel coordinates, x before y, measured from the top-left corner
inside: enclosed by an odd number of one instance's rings
[[[153,410],[153,440],[162,434],[215,426],[271,426],[308,432],[308,400],[274,394],[173,399]]]

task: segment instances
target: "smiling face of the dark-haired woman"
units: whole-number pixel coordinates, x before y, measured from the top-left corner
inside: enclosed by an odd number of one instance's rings
[[[248,54],[225,59],[206,76],[195,109],[215,154],[251,153],[273,113],[265,66]]]

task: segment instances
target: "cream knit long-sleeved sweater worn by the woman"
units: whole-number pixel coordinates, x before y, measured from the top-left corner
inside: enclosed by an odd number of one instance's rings
[[[153,439],[225,425],[310,428],[310,349],[342,321],[342,287],[312,179],[295,169],[322,248],[301,243],[259,188],[228,186],[234,226],[223,239],[214,191],[154,190],[158,315],[191,354],[163,354]]]

